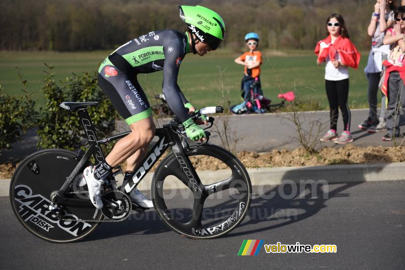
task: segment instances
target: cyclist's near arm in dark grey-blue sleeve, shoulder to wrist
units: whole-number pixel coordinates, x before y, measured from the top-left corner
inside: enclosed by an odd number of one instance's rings
[[[171,47],[171,50],[168,50],[169,47]],[[165,53],[163,94],[165,95],[170,109],[180,121],[184,122],[190,118],[190,116],[188,115],[188,110],[184,108],[184,103],[186,103],[187,100],[184,98],[184,95],[181,93],[180,87],[177,84],[180,63],[184,58],[182,40],[174,39],[169,41],[165,44],[163,51]]]

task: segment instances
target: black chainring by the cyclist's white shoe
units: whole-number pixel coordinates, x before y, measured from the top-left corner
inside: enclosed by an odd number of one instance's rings
[[[122,221],[131,213],[132,204],[127,194],[122,191],[109,191],[104,193],[103,208],[104,216],[113,221]]]

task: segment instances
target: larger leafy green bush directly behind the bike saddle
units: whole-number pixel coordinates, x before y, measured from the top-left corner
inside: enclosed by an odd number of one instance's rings
[[[109,99],[97,84],[97,73],[73,74],[61,82],[55,82],[53,67],[46,65],[45,93],[46,106],[41,108],[37,134],[38,148],[64,148],[74,150],[82,146],[86,138],[77,113],[59,107],[63,101],[96,101],[97,106],[88,108],[99,136],[108,136],[114,130],[116,112]]]

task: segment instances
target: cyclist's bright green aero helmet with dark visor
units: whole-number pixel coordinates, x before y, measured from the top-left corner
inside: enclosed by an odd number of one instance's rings
[[[191,32],[201,42],[207,43],[212,50],[218,49],[225,35],[225,23],[221,16],[201,6],[179,6],[179,10],[180,18]]]

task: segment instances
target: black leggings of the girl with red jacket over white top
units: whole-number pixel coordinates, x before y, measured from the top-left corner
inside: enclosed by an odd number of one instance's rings
[[[351,113],[347,103],[349,98],[349,79],[325,80],[325,87],[330,107],[331,129],[337,130],[338,108],[340,108],[343,116],[343,130],[350,131]]]

